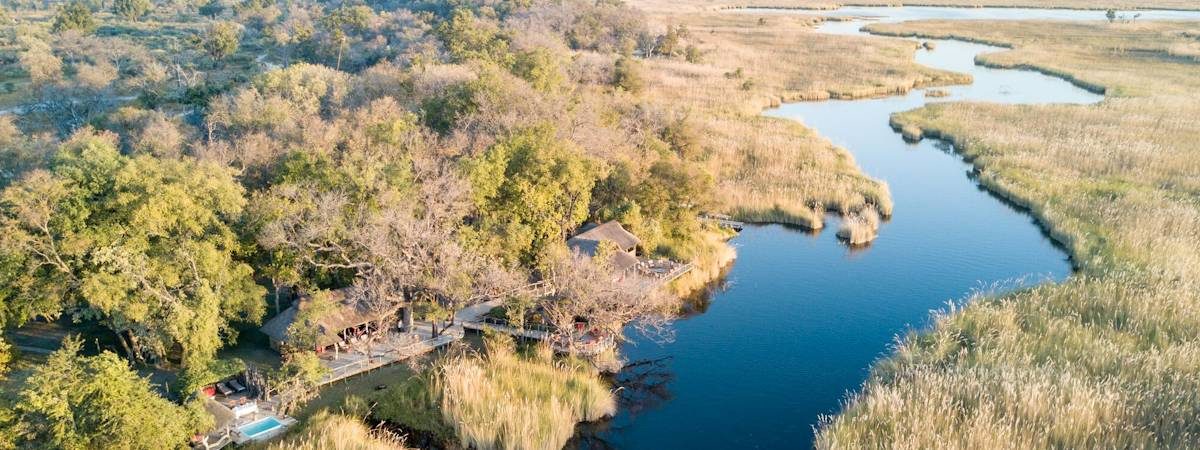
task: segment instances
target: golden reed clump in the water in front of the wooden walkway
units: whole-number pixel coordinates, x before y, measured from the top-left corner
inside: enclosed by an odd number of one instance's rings
[[[610,416],[617,401],[595,368],[577,360],[556,360],[547,347],[517,354],[511,338],[488,336],[487,353],[448,356],[432,367],[420,389],[394,388],[377,415],[440,436],[445,427],[463,446],[490,449],[562,449],[581,421]],[[397,397],[400,396],[400,397]],[[426,404],[440,424],[407,424],[407,410]],[[445,436],[443,436],[445,438]]]

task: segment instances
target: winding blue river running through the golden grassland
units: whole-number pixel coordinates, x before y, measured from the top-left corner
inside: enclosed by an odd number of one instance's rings
[[[779,13],[796,13],[784,12]],[[1104,19],[1104,12],[1022,8],[854,7],[838,17],[906,19]],[[1129,14],[1132,13],[1123,13]],[[1200,18],[1152,11],[1148,18]],[[862,35],[868,20],[828,22],[817,32]],[[738,259],[701,310],[676,323],[676,340],[635,340],[619,376],[630,389],[613,420],[584,428],[578,446],[619,449],[794,449],[811,445],[821,415],[835,414],[896,336],[929,325],[930,312],[978,289],[1057,281],[1067,254],[1030,215],[984,192],[947,144],[907,144],[892,113],[930,101],[1094,103],[1103,96],[1036,72],[974,65],[1003,50],[935,41],[918,50],[930,67],[970,73],[944,98],[904,96],[784,104],[764,114],[798,120],[848,149],[863,170],[887,181],[895,215],[866,248],[833,232],[751,226],[732,240]]]

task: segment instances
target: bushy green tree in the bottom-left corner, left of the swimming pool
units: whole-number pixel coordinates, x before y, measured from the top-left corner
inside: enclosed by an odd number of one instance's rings
[[[186,449],[206,425],[196,408],[154,392],[126,361],[79,354],[67,338],[40,365],[16,404],[18,442],[40,449]]]

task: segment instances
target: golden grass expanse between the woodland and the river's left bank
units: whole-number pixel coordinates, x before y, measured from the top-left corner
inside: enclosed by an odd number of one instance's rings
[[[636,6],[668,10],[653,1]],[[816,34],[812,17],[672,11],[650,19],[685,25],[703,56],[698,64],[648,60],[647,97],[690,113],[704,136],[719,203],[751,222],[820,229],[826,210],[848,215],[874,206],[887,216],[893,208],[887,186],[864,175],[848,152],[800,124],[761,116],[764,108],[970,80],[917,65],[911,42]]]

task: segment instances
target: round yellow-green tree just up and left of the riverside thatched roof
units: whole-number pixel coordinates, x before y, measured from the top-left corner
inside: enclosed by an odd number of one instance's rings
[[[506,260],[545,263],[587,218],[595,170],[551,126],[515,132],[467,166],[479,236]]]

